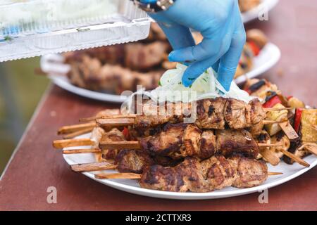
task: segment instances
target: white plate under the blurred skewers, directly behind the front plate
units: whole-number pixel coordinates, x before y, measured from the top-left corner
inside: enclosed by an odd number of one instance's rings
[[[280,49],[275,44],[268,43],[262,49],[259,56],[254,58],[254,68],[247,73],[247,77],[252,78],[261,75],[273,67],[280,59]],[[119,96],[116,94],[107,94],[105,92],[90,91],[83,89],[73,84],[70,84],[66,73],[70,70],[70,66],[63,64],[63,56],[61,55],[47,55],[41,58],[41,68],[44,72],[48,72],[49,78],[62,89],[70,91],[74,94],[92,98],[99,101],[108,101],[115,103],[123,103],[126,100],[126,96]],[[235,79],[237,84],[245,82],[246,77],[241,76]]]

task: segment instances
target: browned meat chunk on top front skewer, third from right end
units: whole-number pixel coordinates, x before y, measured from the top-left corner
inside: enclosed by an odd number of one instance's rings
[[[204,129],[225,129],[224,109],[227,98],[197,101],[197,125]]]

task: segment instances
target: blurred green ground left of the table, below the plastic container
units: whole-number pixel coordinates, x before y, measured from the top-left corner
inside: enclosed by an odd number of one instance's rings
[[[49,84],[38,67],[39,57],[0,63],[0,174]]]

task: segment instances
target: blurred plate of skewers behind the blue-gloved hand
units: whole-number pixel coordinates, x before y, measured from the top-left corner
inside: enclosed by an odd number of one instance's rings
[[[194,33],[199,43],[201,35]],[[123,91],[136,91],[137,84],[147,90],[159,85],[161,75],[175,68],[176,63],[168,62],[170,45],[165,35],[154,23],[147,39],[128,44],[104,46],[48,55],[41,59],[41,68],[54,84],[74,94],[99,101],[122,103]],[[280,59],[280,50],[270,43],[260,30],[247,32],[237,68],[236,82],[261,75]]]

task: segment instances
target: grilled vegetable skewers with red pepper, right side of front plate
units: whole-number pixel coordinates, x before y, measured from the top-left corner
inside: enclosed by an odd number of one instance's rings
[[[258,96],[266,100],[263,105],[270,108],[292,107],[293,112],[280,111],[268,113],[268,118],[271,120],[289,119],[287,126],[289,133],[287,137],[290,139],[289,152],[297,155],[299,158],[309,154],[317,155],[317,109],[306,109],[306,105],[298,98],[293,96],[282,96],[280,90],[275,84],[271,84],[266,79],[248,79],[244,86],[244,90],[252,96]],[[268,124],[266,130],[270,136],[279,136],[281,126],[283,124]],[[294,127],[294,129],[292,128]],[[286,130],[286,131],[287,131]],[[285,131],[283,129],[283,131]],[[285,139],[285,138],[283,138]],[[292,164],[294,160],[285,157],[284,161]]]

